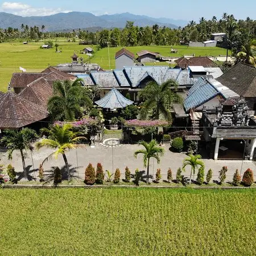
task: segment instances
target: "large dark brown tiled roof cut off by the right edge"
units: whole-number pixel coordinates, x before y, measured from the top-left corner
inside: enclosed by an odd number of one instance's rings
[[[256,97],[256,68],[238,63],[216,79],[243,97]]]

